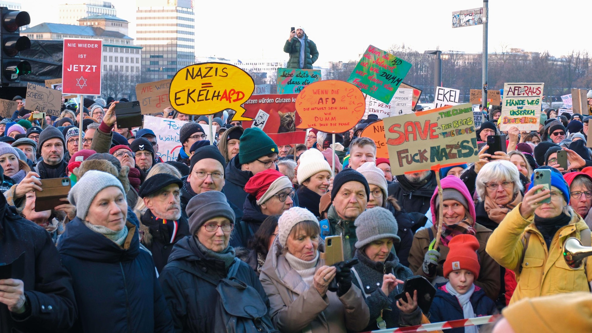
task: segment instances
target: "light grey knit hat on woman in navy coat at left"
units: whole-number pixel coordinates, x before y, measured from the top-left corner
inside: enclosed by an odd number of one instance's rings
[[[88,209],[91,207],[92,200],[95,200],[96,194],[110,186],[118,187],[123,193],[123,197],[126,198],[123,185],[114,175],[97,170],[86,171],[68,194],[68,201],[76,206],[76,217],[81,220],[86,219]]]

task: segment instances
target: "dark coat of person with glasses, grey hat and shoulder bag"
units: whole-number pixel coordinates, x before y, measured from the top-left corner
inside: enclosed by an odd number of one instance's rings
[[[173,261],[182,268],[171,265]],[[239,264],[235,277],[255,288],[269,308],[269,300],[253,268],[243,261]],[[227,274],[224,262],[205,257],[194,236],[187,236],[173,246],[169,264],[162,270],[159,281],[176,332],[214,332],[216,286]]]

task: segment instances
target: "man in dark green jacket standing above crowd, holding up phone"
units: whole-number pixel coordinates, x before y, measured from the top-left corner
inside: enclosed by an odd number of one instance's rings
[[[317,44],[308,39],[303,27],[290,32],[284,52],[290,55],[287,68],[313,69],[313,63],[318,59]]]

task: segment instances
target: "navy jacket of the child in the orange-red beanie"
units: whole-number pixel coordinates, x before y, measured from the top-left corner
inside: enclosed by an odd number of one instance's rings
[[[485,292],[478,286],[471,295],[471,305],[475,316],[489,316],[497,314],[496,303],[485,295]],[[446,283],[436,284],[436,296],[430,306],[430,322],[453,321],[465,318],[462,313],[461,304],[458,303],[456,296],[446,291]],[[450,333],[464,333],[464,328],[448,329]]]

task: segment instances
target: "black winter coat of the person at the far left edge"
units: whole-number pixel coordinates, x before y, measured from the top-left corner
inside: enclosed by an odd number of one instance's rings
[[[56,246],[46,230],[23,219],[4,196],[0,196],[0,262],[12,263],[11,277],[22,280],[28,299],[21,315],[0,304],[0,332],[66,332],[72,327],[77,315],[72,278],[60,263]]]

